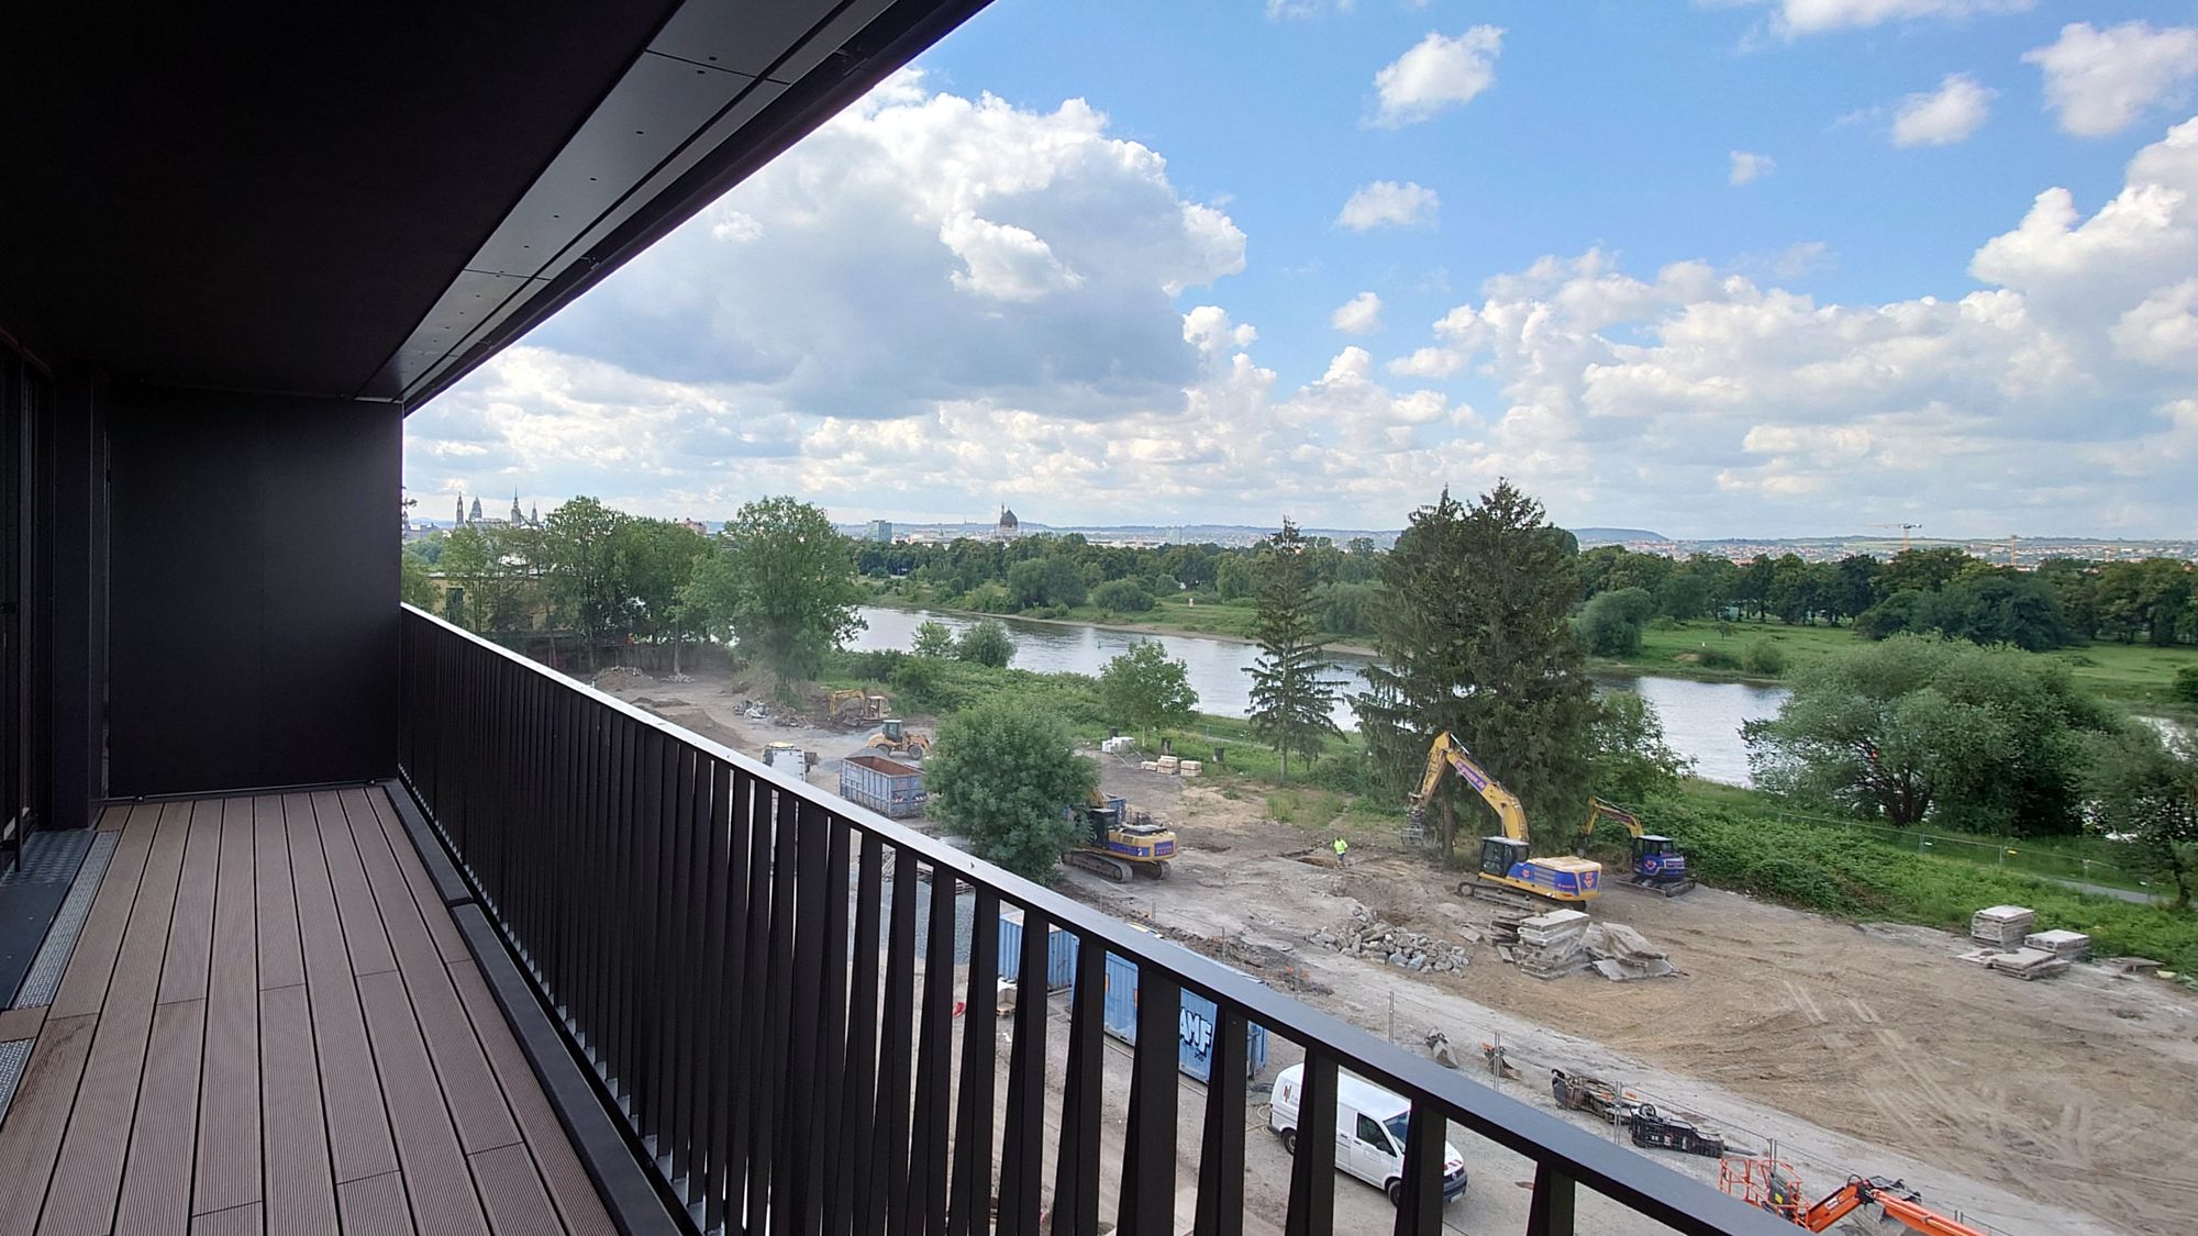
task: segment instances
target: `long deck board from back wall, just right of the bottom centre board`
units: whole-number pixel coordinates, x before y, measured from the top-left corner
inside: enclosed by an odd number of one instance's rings
[[[336,1183],[380,1177],[398,1168],[398,1155],[389,1139],[389,1115],[382,1108],[374,1049],[367,1045],[367,1025],[358,1009],[336,895],[328,880],[319,814],[303,794],[286,794],[284,820],[290,875],[297,884],[297,926],[306,954],[330,1161]]]

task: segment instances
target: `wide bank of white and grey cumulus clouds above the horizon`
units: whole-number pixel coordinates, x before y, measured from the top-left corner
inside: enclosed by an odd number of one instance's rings
[[[415,411],[424,508],[517,486],[710,519],[798,493],[848,519],[1394,528],[1508,475],[1558,519],[1681,534],[1919,493],[1945,528],[2198,532],[2198,119],[2103,202],[2040,194],[1947,297],[1591,249],[1297,361],[1229,308],[1235,227],[1097,112],[901,79],[818,139]]]

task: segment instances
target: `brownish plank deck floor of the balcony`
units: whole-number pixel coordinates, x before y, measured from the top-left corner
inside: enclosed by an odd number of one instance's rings
[[[0,1236],[613,1232],[378,790],[101,829],[0,1122]]]

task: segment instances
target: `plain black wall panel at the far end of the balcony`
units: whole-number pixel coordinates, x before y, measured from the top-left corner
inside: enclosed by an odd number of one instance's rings
[[[110,389],[108,792],[396,770],[396,405]]]

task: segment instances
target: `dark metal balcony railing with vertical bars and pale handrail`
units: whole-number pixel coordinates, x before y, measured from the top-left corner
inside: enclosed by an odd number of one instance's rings
[[[1339,1069],[1411,1102],[1398,1234],[1442,1229],[1451,1124],[1534,1161],[1530,1236],[1574,1232],[1576,1185],[1692,1236],[1789,1232],[1246,974],[411,607],[402,693],[404,779],[655,1157],[659,1185],[701,1229],[1090,1234],[1101,1229],[1101,1157],[1112,1155],[1121,1174],[1108,1218],[1123,1236],[1176,1232],[1178,1157],[1196,1161],[1196,1232],[1237,1236],[1248,1029],[1262,1025],[1306,1051],[1299,1126],[1334,1124]],[[950,895],[961,889],[974,893],[961,926],[967,961]],[[1002,908],[1022,911],[1007,976],[1026,979],[1026,996],[1004,1014],[1004,1106]],[[1051,926],[1079,941],[1057,1082],[1057,1027],[1035,996],[1046,990]],[[1128,1126],[1112,1137],[1108,952],[1139,974]],[[1213,1001],[1218,1031],[1189,1144],[1178,1135],[1176,1071],[1185,990]],[[1284,1229],[1330,1232],[1334,1190],[1334,1141],[1301,1139]]]

